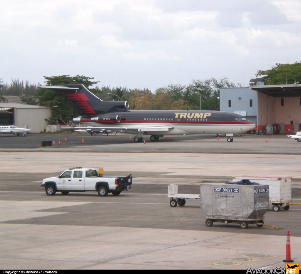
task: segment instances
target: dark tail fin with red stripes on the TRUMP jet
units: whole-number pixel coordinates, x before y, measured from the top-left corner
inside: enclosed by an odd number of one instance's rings
[[[73,84],[63,86],[39,86],[61,92],[73,104],[81,115],[93,115],[106,112],[126,111],[129,107],[127,101],[102,101],[84,85]]]

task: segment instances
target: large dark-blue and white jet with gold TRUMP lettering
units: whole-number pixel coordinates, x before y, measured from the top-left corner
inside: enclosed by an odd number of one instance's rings
[[[128,110],[127,101],[102,101],[80,84],[39,86],[64,94],[81,114],[73,118],[94,130],[134,134],[134,142],[142,142],[143,135],[158,141],[163,135],[215,134],[228,136],[247,132],[255,124],[244,116],[222,111],[154,111]],[[79,129],[79,128],[76,128]],[[84,130],[87,128],[83,128]]]

